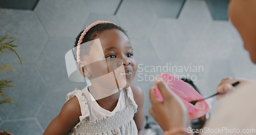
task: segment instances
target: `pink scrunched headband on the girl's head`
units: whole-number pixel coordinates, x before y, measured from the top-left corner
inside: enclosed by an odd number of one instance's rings
[[[77,48],[76,48],[76,57],[77,57],[77,62],[81,61],[81,58],[80,58],[80,51],[81,51],[81,48],[80,48],[80,45],[81,45],[81,42],[83,40],[83,37],[84,35],[86,35],[86,33],[91,29],[93,28],[94,26],[98,25],[98,24],[106,24],[106,23],[111,23],[111,24],[114,24],[113,22],[110,22],[110,21],[104,21],[104,20],[98,20],[96,22],[93,22],[90,26],[88,26],[86,29],[83,30],[83,33],[81,34],[79,40],[78,40],[78,43],[77,43]],[[116,25],[116,24],[114,24]]]

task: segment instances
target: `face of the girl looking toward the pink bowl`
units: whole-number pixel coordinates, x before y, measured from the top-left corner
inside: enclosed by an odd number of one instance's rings
[[[101,61],[87,66],[87,70],[90,73],[89,79],[97,78],[114,71],[115,82],[121,85],[120,82],[126,80],[125,86],[119,87],[129,87],[137,71],[137,63],[133,56],[133,48],[129,38],[117,29],[104,30],[96,38],[99,38],[102,49],[96,49],[100,51],[94,53],[90,52],[90,57],[98,57]],[[95,50],[94,47],[97,46],[92,46],[91,50]],[[108,77],[103,78],[108,79]],[[111,80],[102,80],[102,83],[109,81]]]

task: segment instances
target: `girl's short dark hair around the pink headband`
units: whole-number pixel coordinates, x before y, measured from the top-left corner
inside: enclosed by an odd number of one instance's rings
[[[101,32],[103,32],[104,30],[111,30],[111,29],[117,29],[117,30],[120,30],[121,32],[123,32],[126,36],[126,31],[123,30],[121,27],[117,26],[117,25],[114,25],[114,24],[111,24],[111,23],[105,23],[105,24],[98,24],[94,27],[92,27],[87,33],[86,35],[84,35],[83,37],[83,41],[81,42],[84,43],[84,42],[88,42],[88,41],[91,41],[93,39],[95,39],[95,37],[97,37],[97,35],[99,35]],[[77,43],[78,43],[78,40],[81,36],[83,31],[81,31],[79,33],[79,35],[76,37],[76,41],[75,41],[75,46],[77,46]],[[128,36],[127,36],[128,37]],[[82,48],[81,48],[82,50]]]

